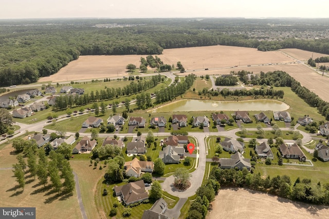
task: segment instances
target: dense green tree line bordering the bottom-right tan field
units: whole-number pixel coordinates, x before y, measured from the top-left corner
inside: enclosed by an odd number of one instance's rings
[[[260,173],[251,174],[246,168],[237,171],[219,167],[211,170],[209,178],[216,180],[221,186],[249,188],[306,203],[329,204],[329,184],[314,184],[308,178],[300,180],[298,177],[295,182],[291,182],[287,175],[262,178]]]

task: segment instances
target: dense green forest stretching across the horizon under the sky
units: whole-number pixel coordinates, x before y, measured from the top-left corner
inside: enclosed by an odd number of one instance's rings
[[[327,19],[1,20],[0,86],[34,83],[79,55],[150,55],[211,45],[329,54],[328,24]]]

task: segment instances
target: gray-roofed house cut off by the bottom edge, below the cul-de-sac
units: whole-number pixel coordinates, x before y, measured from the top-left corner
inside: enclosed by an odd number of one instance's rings
[[[164,214],[167,209],[168,204],[161,197],[152,205],[150,210],[144,210],[142,219],[172,219],[172,217],[168,217]]]

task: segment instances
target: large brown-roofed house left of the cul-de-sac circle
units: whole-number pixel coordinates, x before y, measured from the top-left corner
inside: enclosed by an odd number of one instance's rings
[[[143,180],[128,183],[123,186],[114,186],[116,196],[121,196],[124,205],[131,205],[149,199],[149,194],[145,191]]]

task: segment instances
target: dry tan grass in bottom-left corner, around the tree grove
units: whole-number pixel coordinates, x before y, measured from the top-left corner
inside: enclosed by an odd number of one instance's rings
[[[17,163],[11,144],[5,146],[0,153],[0,168],[12,167]],[[51,189],[39,185],[39,180],[25,174],[24,191],[17,188],[18,183],[11,169],[0,170],[0,206],[2,207],[35,207],[36,218],[82,218],[76,191],[73,195],[57,197]]]

